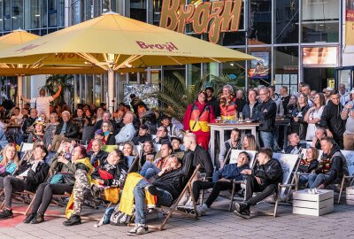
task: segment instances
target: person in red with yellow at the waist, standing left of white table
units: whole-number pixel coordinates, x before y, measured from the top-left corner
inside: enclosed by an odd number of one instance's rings
[[[209,123],[215,122],[215,114],[212,106],[206,101],[206,93],[199,92],[198,100],[189,104],[183,117],[183,127],[187,133],[196,135],[196,143],[208,150],[210,141]]]

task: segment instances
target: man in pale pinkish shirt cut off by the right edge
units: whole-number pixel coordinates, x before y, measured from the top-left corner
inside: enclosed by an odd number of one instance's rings
[[[342,120],[345,123],[345,132],[343,134],[344,150],[354,150],[354,89],[350,91],[351,99],[342,109]]]

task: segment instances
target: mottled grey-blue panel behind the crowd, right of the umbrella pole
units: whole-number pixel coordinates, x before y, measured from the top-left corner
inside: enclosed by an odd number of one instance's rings
[[[159,90],[156,84],[123,84],[123,102],[130,104],[130,95],[135,94],[148,105],[148,107],[158,107],[158,99],[153,97],[147,97],[148,94],[157,92]]]

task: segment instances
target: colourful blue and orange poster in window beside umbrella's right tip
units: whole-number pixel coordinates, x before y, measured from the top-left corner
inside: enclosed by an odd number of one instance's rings
[[[269,79],[269,52],[250,52],[250,55],[259,60],[250,61],[249,77],[256,79]]]

